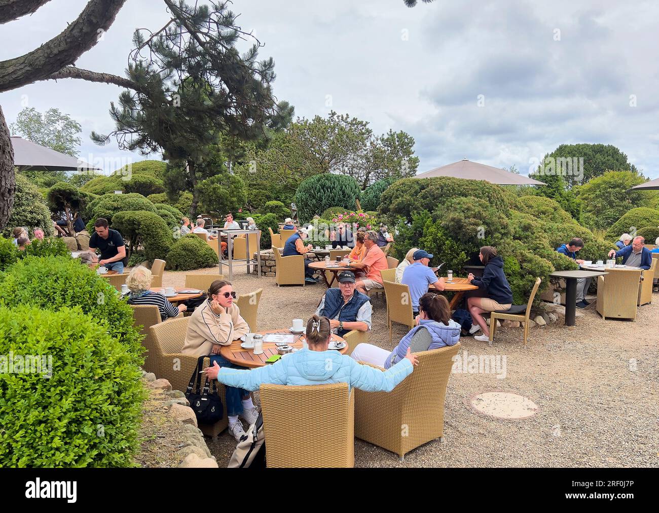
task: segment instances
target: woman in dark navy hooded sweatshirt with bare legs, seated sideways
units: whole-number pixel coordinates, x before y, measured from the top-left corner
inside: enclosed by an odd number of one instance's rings
[[[471,318],[478,324],[472,326],[471,333],[478,331],[479,327],[483,330],[483,334],[474,337],[474,339],[487,342],[490,340],[490,330],[482,313],[509,309],[513,304],[513,291],[510,289],[508,280],[505,279],[505,274],[503,274],[503,258],[496,254],[496,248],[483,246],[480,248],[478,257],[485,266],[483,276],[482,278],[474,278],[474,275],[470,272],[467,279],[479,289],[485,289],[487,297],[468,297],[467,307],[471,312]]]

